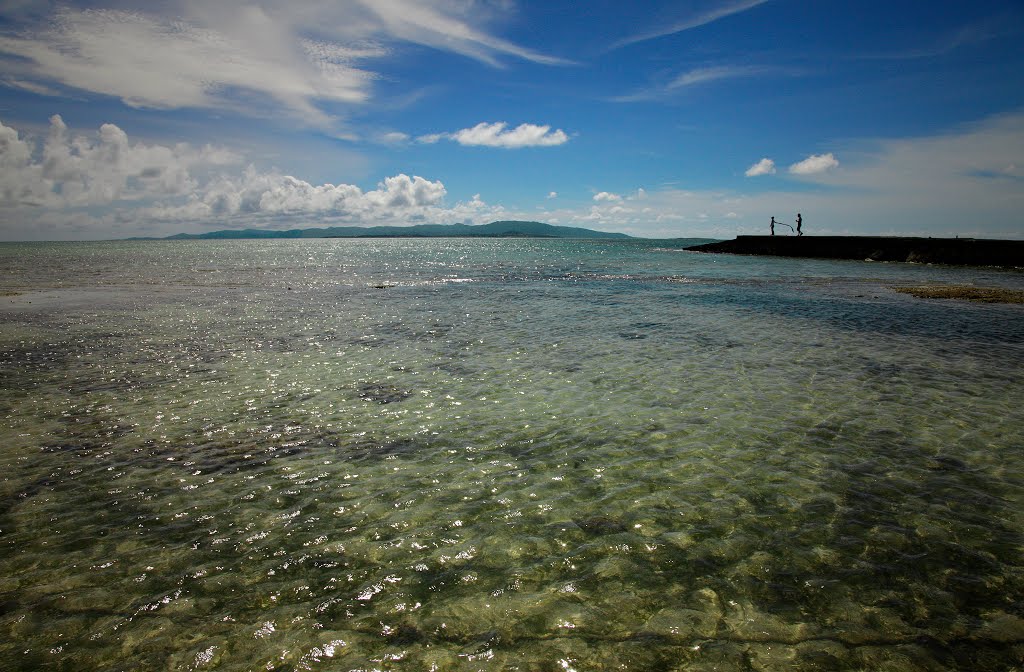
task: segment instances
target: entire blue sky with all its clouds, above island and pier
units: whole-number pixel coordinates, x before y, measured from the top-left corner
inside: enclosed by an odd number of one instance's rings
[[[0,0],[0,241],[798,212],[1024,238],[1024,4]]]

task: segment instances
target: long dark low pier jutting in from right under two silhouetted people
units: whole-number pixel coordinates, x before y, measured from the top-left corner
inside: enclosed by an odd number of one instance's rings
[[[686,248],[782,257],[913,261],[970,266],[1024,266],[1024,241],[871,236],[737,236]]]

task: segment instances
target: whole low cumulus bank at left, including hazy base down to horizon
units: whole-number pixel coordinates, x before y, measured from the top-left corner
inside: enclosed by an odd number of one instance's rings
[[[452,223],[505,215],[479,195],[447,205],[443,183],[417,175],[398,173],[364,191],[240,164],[241,157],[223,149],[133,142],[114,124],[75,134],[54,116],[38,142],[0,123],[0,235],[95,238],[197,226]],[[43,224],[54,233],[25,233]]]

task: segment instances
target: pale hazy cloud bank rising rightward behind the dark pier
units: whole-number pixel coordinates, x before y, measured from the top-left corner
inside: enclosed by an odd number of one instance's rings
[[[845,150],[854,152],[856,161],[844,162],[843,170],[802,176],[834,188],[662,188],[643,202],[606,201],[552,210],[549,217],[641,236],[732,238],[767,234],[771,215],[792,222],[802,212],[805,230],[819,235],[1024,238],[1016,225],[1024,209],[1024,114]]]

